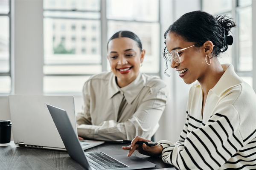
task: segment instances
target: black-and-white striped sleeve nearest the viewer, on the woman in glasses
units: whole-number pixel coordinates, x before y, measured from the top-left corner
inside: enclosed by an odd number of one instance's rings
[[[181,133],[180,138],[185,138],[184,142],[172,144],[164,141],[163,161],[177,169],[217,170],[241,149],[244,143],[239,132],[240,119],[236,108],[230,104],[220,104],[213,113],[204,127],[193,128],[186,138],[185,132]],[[186,131],[186,125],[184,129]]]

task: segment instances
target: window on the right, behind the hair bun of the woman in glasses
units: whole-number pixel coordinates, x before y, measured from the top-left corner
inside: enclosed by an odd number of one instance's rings
[[[234,42],[222,54],[221,63],[234,65],[236,73],[252,86],[252,0],[203,0],[203,10],[212,15],[228,14],[237,28],[232,28]]]

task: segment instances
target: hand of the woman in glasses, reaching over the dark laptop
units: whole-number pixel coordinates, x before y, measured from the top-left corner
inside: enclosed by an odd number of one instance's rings
[[[125,147],[125,146],[122,147],[122,149],[124,150],[130,150],[127,156],[131,156],[134,150],[138,150],[139,153],[147,156],[161,155],[163,147],[160,144],[157,144],[151,147],[147,146],[146,144],[135,144],[136,142],[139,142],[139,141],[152,142],[148,139],[142,138],[140,136],[136,136],[128,147]]]

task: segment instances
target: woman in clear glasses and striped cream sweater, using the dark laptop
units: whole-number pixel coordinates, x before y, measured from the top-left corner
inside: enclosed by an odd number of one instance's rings
[[[230,17],[193,11],[181,16],[166,33],[164,58],[189,91],[186,124],[177,142],[157,145],[135,137],[125,150],[161,156],[176,169],[234,170],[256,168],[256,94],[234,71],[218,61],[232,45],[236,26]],[[168,130],[167,130],[168,131]]]

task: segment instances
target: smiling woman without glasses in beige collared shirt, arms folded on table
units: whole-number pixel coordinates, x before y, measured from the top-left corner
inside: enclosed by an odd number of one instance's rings
[[[83,112],[76,116],[80,139],[151,139],[168,99],[166,84],[140,72],[145,50],[130,31],[108,40],[111,72],[93,75],[84,84]]]

